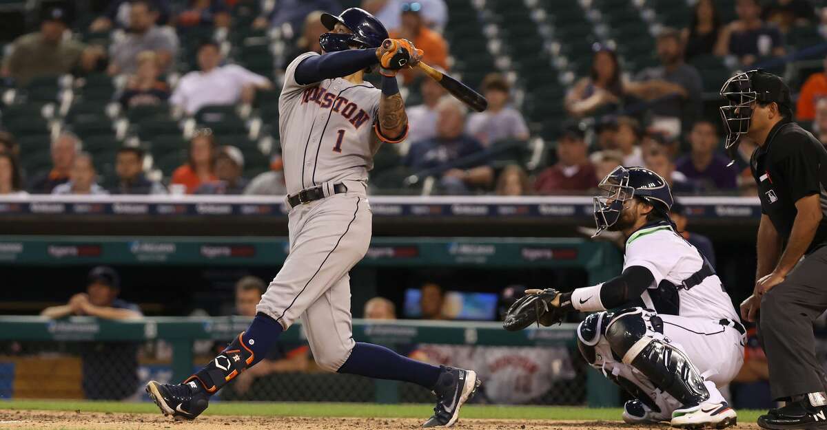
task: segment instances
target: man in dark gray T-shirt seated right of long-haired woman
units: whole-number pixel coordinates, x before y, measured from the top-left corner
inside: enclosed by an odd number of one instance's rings
[[[684,63],[681,34],[675,29],[664,28],[657,35],[657,57],[661,65],[638,73],[637,82],[628,83],[625,90],[650,102],[653,124],[663,123],[660,126],[671,128],[672,135],[681,135],[702,114],[704,86],[698,70]]]

